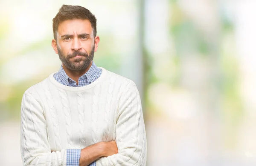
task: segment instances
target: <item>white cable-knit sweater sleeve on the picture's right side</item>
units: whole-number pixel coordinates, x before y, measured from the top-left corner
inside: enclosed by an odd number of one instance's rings
[[[145,166],[146,133],[140,95],[133,83],[119,100],[116,120],[118,154],[101,157],[96,166]]]

